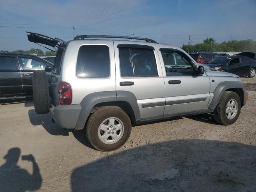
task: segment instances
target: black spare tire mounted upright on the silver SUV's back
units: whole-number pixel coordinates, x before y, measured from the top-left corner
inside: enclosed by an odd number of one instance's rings
[[[48,76],[44,70],[32,74],[34,107],[37,114],[46,114],[50,109]]]

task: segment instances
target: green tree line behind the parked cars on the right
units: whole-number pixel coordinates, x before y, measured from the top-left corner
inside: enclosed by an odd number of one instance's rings
[[[190,45],[189,52],[256,52],[256,41],[234,40],[234,48],[232,48],[232,40],[216,43],[213,38],[206,38],[202,43]],[[188,52],[188,45],[182,45],[182,49]]]

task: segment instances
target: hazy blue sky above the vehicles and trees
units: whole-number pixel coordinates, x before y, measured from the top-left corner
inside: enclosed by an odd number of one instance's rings
[[[152,38],[181,47],[256,40],[256,0],[0,0],[0,50],[40,48],[26,32],[65,41],[75,35]]]

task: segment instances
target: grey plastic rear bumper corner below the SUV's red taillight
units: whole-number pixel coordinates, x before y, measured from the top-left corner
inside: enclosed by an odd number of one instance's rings
[[[50,108],[50,113],[54,121],[65,129],[74,129],[81,111],[81,105],[58,105]]]

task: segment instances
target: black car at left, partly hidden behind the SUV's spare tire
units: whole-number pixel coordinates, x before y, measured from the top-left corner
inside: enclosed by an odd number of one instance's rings
[[[0,54],[0,99],[32,96],[33,71],[52,69],[52,63],[34,55]]]

